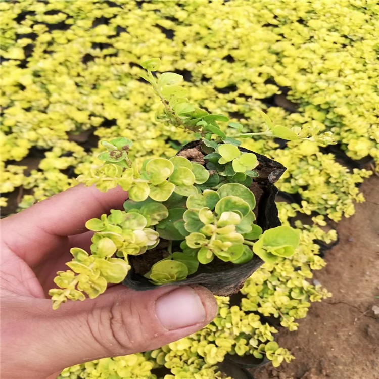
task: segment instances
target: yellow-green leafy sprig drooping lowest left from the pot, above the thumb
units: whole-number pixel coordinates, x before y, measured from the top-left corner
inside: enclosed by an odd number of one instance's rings
[[[112,210],[108,217],[88,220],[87,229],[94,231],[91,255],[79,248],[70,250],[74,258],[67,266],[71,271],[59,271],[54,282],[60,289],[49,291],[53,308],[68,299],[84,300],[84,294],[93,299],[106,290],[108,283],[120,283],[130,269],[128,255],[143,254],[157,245],[159,234],[149,226],[161,215],[161,209],[156,209],[149,219],[138,211]]]

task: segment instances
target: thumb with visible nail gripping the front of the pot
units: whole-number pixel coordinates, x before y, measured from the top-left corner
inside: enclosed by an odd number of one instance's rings
[[[48,300],[39,302],[33,319],[24,319],[22,333],[10,342],[18,351],[18,365],[33,365],[45,377],[74,364],[156,349],[194,333],[217,313],[214,296],[203,287],[134,292],[116,286],[58,311]]]

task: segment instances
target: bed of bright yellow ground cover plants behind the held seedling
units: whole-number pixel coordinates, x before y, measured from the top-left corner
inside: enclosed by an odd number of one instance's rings
[[[100,138],[133,140],[133,160],[171,157],[191,140],[155,120],[153,91],[136,79],[138,63],[152,55],[164,57],[161,72],[184,76],[192,103],[227,115],[245,133],[265,130],[264,110],[274,125],[333,130],[349,157],[377,161],[374,0],[26,0],[2,2],[0,9],[3,215],[99,168],[93,157],[103,151]],[[348,169],[309,141],[285,146],[252,136],[241,146],[288,168],[277,183],[292,195],[278,204],[281,222],[310,216],[296,221],[294,256],[258,269],[241,300],[219,298],[219,316],[199,333],[144,355],[75,366],[63,377],[163,377],[155,373],[163,366],[174,377],[220,376],[216,366],[226,354],[260,354],[279,324],[296,329],[310,302],[328,296],[309,281],[325,264],[320,244],[337,238],[325,223],[354,213],[354,202],[363,201],[357,184],[370,173],[359,164]],[[273,348],[268,357],[276,363],[291,359]]]

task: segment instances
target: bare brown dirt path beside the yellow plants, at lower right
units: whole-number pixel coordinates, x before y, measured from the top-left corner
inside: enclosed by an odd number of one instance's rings
[[[299,330],[282,329],[281,346],[296,356],[277,369],[253,371],[255,379],[379,379],[379,178],[362,185],[366,202],[338,224],[340,243],[315,272],[333,297],[312,304]],[[379,309],[378,309],[379,310]]]

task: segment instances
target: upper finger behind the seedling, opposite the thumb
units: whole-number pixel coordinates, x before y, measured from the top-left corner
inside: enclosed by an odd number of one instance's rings
[[[85,231],[85,222],[110,209],[122,209],[127,193],[120,187],[107,193],[77,185],[2,220],[8,247],[30,266],[68,243],[68,235]]]

